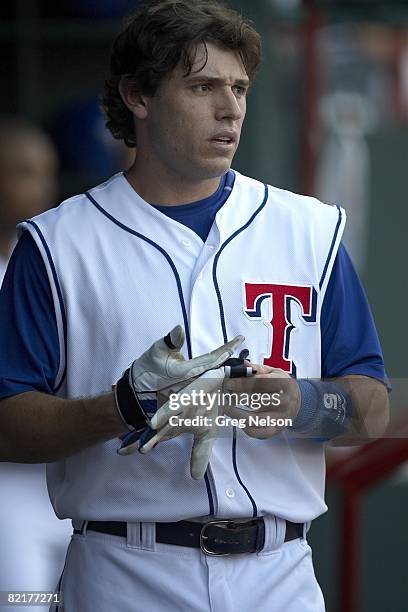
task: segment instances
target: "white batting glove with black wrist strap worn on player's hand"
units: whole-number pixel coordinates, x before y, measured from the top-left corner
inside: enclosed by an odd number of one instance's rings
[[[154,435],[149,407],[154,412],[171,393],[177,393],[204,372],[220,367],[244,340],[243,336],[236,336],[210,353],[186,360],[180,352],[184,338],[183,328],[177,325],[136,359],[117,382],[116,406],[131,430],[123,438],[120,455],[139,450],[143,433],[145,440],[146,434]]]

